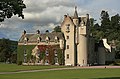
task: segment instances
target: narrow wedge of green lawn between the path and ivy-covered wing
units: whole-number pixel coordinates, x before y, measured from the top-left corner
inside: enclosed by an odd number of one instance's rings
[[[17,72],[17,71],[26,71],[26,70],[42,70],[42,69],[51,69],[51,68],[63,68],[66,66],[22,66],[17,64],[0,64],[0,72]]]

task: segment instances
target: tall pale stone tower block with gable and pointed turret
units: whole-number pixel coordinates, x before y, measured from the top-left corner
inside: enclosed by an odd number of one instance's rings
[[[88,63],[89,15],[79,17],[64,15],[61,30],[65,37],[65,65],[86,66]]]

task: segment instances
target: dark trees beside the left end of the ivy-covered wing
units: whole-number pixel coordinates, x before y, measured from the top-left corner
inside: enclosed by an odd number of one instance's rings
[[[13,52],[16,50],[17,50],[16,41],[11,41],[9,39],[4,38],[0,39],[0,62],[5,62],[7,61],[7,59],[12,58],[12,55],[14,54]]]

